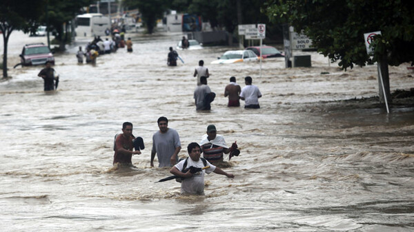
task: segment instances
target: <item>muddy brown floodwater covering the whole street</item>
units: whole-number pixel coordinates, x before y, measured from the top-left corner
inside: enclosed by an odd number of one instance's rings
[[[55,94],[43,92],[42,67],[12,69],[23,44],[46,38],[10,36],[12,78],[0,82],[0,231],[414,230],[413,103],[386,114],[372,99],[345,101],[378,94],[376,65],[344,72],[308,52],[313,67],[269,59],[259,78],[259,63],[210,64],[237,48],[177,50],[185,63],[167,67],[181,34],[128,36],[132,54],[99,56],[95,67],[77,64],[85,39],[55,54]],[[210,112],[195,111],[200,59],[217,94]],[[389,67],[392,92],[414,87],[407,65]],[[242,87],[252,76],[260,109],[226,106],[230,76]],[[211,173],[205,196],[155,183],[170,176],[150,167],[159,116],[179,133],[181,157],[209,124],[228,145],[237,140],[241,154],[224,167],[235,178]],[[125,121],[146,148],[132,157],[136,169],[114,170],[113,138]]]

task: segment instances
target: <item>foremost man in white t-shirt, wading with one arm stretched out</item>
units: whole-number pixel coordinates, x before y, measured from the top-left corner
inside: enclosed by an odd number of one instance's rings
[[[220,175],[227,176],[228,178],[234,178],[235,175],[232,173],[226,173],[219,167],[215,167],[210,164],[207,160],[201,160],[201,149],[198,143],[190,143],[187,147],[188,155],[190,158],[181,160],[177,165],[170,169],[170,173],[175,176],[184,178],[181,180],[181,194],[198,194],[204,195],[204,175],[205,173],[217,173]],[[204,162],[206,165],[204,165]],[[186,167],[184,164],[186,163]],[[196,172],[188,169],[185,173],[182,172],[184,168],[195,167],[201,170]],[[193,172],[193,173],[192,173]]]

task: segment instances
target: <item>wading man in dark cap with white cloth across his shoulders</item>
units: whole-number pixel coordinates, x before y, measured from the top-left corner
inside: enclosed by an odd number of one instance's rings
[[[223,136],[217,134],[215,125],[208,125],[207,134],[201,138],[200,146],[204,158],[212,164],[223,161],[223,154],[230,152]]]

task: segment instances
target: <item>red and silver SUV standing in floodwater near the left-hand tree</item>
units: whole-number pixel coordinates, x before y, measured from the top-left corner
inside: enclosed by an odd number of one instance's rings
[[[21,65],[44,65],[46,61],[50,61],[52,65],[55,65],[55,57],[48,48],[48,45],[44,43],[31,43],[26,44],[21,51],[20,60]]]

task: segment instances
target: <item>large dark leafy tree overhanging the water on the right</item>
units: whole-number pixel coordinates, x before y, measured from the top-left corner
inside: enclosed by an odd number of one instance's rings
[[[380,61],[386,95],[390,95],[388,63],[414,61],[414,11],[404,0],[268,0],[262,8],[269,19],[303,31],[313,45],[346,70]],[[375,54],[366,54],[364,33],[381,31]],[[380,84],[380,101],[384,102]]]

